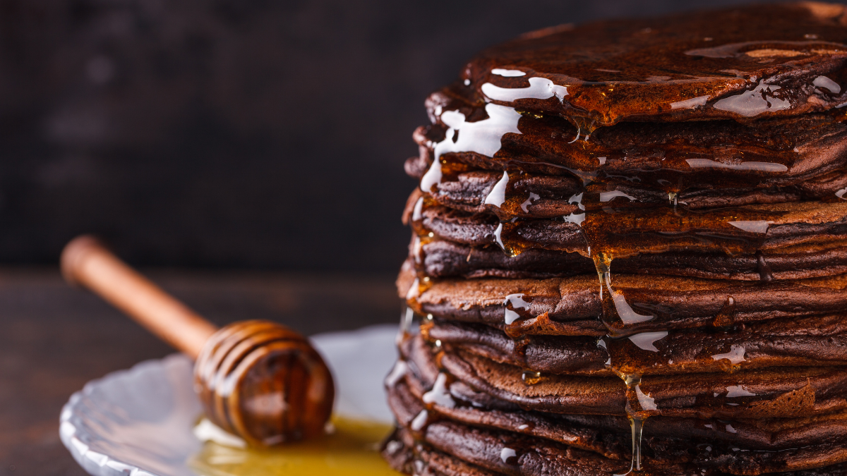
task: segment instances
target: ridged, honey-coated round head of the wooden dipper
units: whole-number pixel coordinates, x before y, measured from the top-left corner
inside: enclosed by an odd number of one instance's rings
[[[197,357],[195,385],[213,423],[259,447],[323,434],[335,399],[308,340],[260,320],[215,333]]]

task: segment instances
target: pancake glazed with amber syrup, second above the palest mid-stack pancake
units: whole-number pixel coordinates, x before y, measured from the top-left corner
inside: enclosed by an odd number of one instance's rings
[[[771,203],[696,212],[607,207],[579,219],[503,223],[490,214],[427,206],[421,198],[408,215],[419,235],[432,233],[464,245],[500,246],[514,250],[512,254],[541,248],[588,255],[588,246],[596,248],[605,244],[602,241],[615,241],[614,246],[625,252],[622,256],[667,251],[740,254],[842,242],[847,235],[847,202]]]

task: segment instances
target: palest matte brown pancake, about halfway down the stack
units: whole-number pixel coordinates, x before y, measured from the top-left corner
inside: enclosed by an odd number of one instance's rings
[[[843,316],[847,275],[793,281],[723,281],[615,274],[612,286],[639,322],[606,323],[598,316],[597,277],[549,280],[440,280],[412,289],[409,268],[398,280],[400,296],[411,297],[422,313],[467,323],[501,326],[511,335],[627,334],[695,327],[749,324],[775,318]],[[411,291],[411,292],[410,292]],[[619,304],[619,302],[618,302]],[[616,304],[612,303],[612,306]]]

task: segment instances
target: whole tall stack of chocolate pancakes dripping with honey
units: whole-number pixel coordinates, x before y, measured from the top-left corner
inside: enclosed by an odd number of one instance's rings
[[[847,9],[534,31],[426,102],[405,473],[847,474]]]

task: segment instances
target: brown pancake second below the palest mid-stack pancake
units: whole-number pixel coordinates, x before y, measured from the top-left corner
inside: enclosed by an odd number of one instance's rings
[[[420,337],[402,357],[416,368],[432,366],[435,352]],[[467,351],[442,351],[447,381],[433,398],[451,395],[455,378],[469,388],[525,410],[627,415],[627,388],[616,377],[543,375],[528,385],[522,368],[495,363]],[[437,379],[436,379],[437,383]],[[733,374],[650,375],[637,385],[636,404],[650,415],[683,418],[799,418],[847,410],[843,368],[772,368]],[[634,397],[634,396],[633,396]]]

